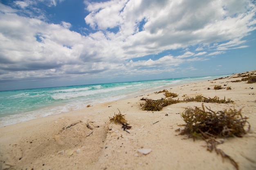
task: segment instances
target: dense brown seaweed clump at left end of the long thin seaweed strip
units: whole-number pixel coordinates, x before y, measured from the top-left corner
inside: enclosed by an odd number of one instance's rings
[[[146,101],[144,104],[141,104],[141,109],[150,110],[150,111],[160,111],[165,106],[182,102],[179,99],[175,100],[172,98],[168,98],[168,99],[162,98],[162,99],[153,100],[153,99],[148,99],[143,97],[140,100]]]

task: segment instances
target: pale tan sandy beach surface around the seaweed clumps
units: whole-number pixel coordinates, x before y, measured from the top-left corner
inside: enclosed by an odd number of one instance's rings
[[[246,74],[256,75],[256,71]],[[218,145],[237,161],[240,170],[256,169],[256,83],[231,82],[236,75],[224,79],[166,88],[179,99],[203,95],[226,97],[233,104],[210,104],[211,110],[243,108],[251,130],[242,138],[225,139]],[[231,90],[214,90],[215,85],[231,86]],[[211,88],[207,90],[207,88]],[[171,88],[171,89],[170,89]],[[253,88],[253,89],[252,89]],[[145,93],[116,102],[96,104],[83,110],[52,115],[25,123],[0,128],[0,170],[235,170],[227,159],[206,150],[203,140],[195,140],[175,132],[184,124],[180,113],[200,102],[178,103],[161,111],[143,111],[142,97],[161,99],[163,93]],[[114,113],[126,114],[132,128],[109,121]],[[168,114],[168,116],[166,115]],[[157,123],[155,123],[157,122]],[[155,124],[153,124],[155,123]],[[149,149],[147,155],[138,152]]]

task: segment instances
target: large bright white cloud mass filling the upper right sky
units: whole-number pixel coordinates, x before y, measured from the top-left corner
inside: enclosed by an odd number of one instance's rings
[[[123,41],[120,45],[126,54],[137,53],[138,57],[192,44],[240,38],[255,29],[251,20],[255,9],[247,11],[248,1],[124,0],[117,3],[112,0],[87,4],[91,13],[85,21],[94,29],[119,26],[112,40]],[[146,20],[143,31],[138,32],[137,23],[143,20]]]

